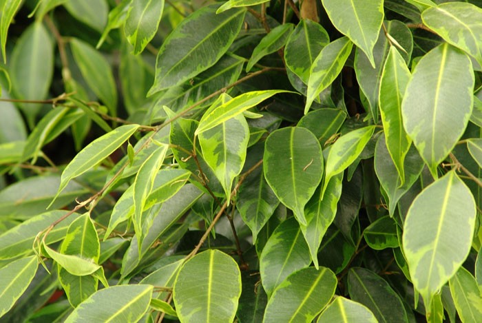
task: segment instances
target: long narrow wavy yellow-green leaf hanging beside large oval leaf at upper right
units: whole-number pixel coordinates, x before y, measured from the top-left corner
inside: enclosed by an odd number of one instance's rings
[[[412,143],[401,118],[401,102],[409,79],[410,71],[404,58],[392,46],[381,74],[379,104],[386,147],[397,167],[401,185],[405,183],[404,159]]]

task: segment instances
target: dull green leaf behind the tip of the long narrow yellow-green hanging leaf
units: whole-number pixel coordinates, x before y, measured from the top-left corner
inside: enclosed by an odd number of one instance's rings
[[[401,183],[397,167],[388,152],[385,136],[381,135],[375,147],[375,172],[388,198],[386,202],[390,216],[395,214],[397,202],[412,187],[423,169],[423,160],[413,145],[404,158],[404,169],[405,181]]]

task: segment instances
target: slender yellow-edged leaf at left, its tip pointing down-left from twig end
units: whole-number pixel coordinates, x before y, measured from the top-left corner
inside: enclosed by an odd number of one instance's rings
[[[118,147],[121,147],[121,145],[125,143],[125,140],[129,139],[129,137],[136,132],[138,127],[139,125],[123,125],[97,138],[82,149],[63,170],[57,196],[72,178],[84,174],[85,171],[101,163],[102,160],[112,154]]]

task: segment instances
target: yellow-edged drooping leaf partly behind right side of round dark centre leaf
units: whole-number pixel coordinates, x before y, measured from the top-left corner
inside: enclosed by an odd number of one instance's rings
[[[316,268],[318,267],[319,245],[322,244],[323,236],[337,213],[337,203],[342,195],[342,180],[343,174],[332,177],[324,196],[322,196],[322,187],[319,185],[304,207],[306,226],[300,225],[300,227]]]

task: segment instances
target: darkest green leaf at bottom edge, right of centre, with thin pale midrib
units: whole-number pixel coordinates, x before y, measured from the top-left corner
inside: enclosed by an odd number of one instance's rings
[[[379,322],[408,322],[399,295],[373,271],[351,268],[348,271],[348,293],[352,300],[368,307]]]

